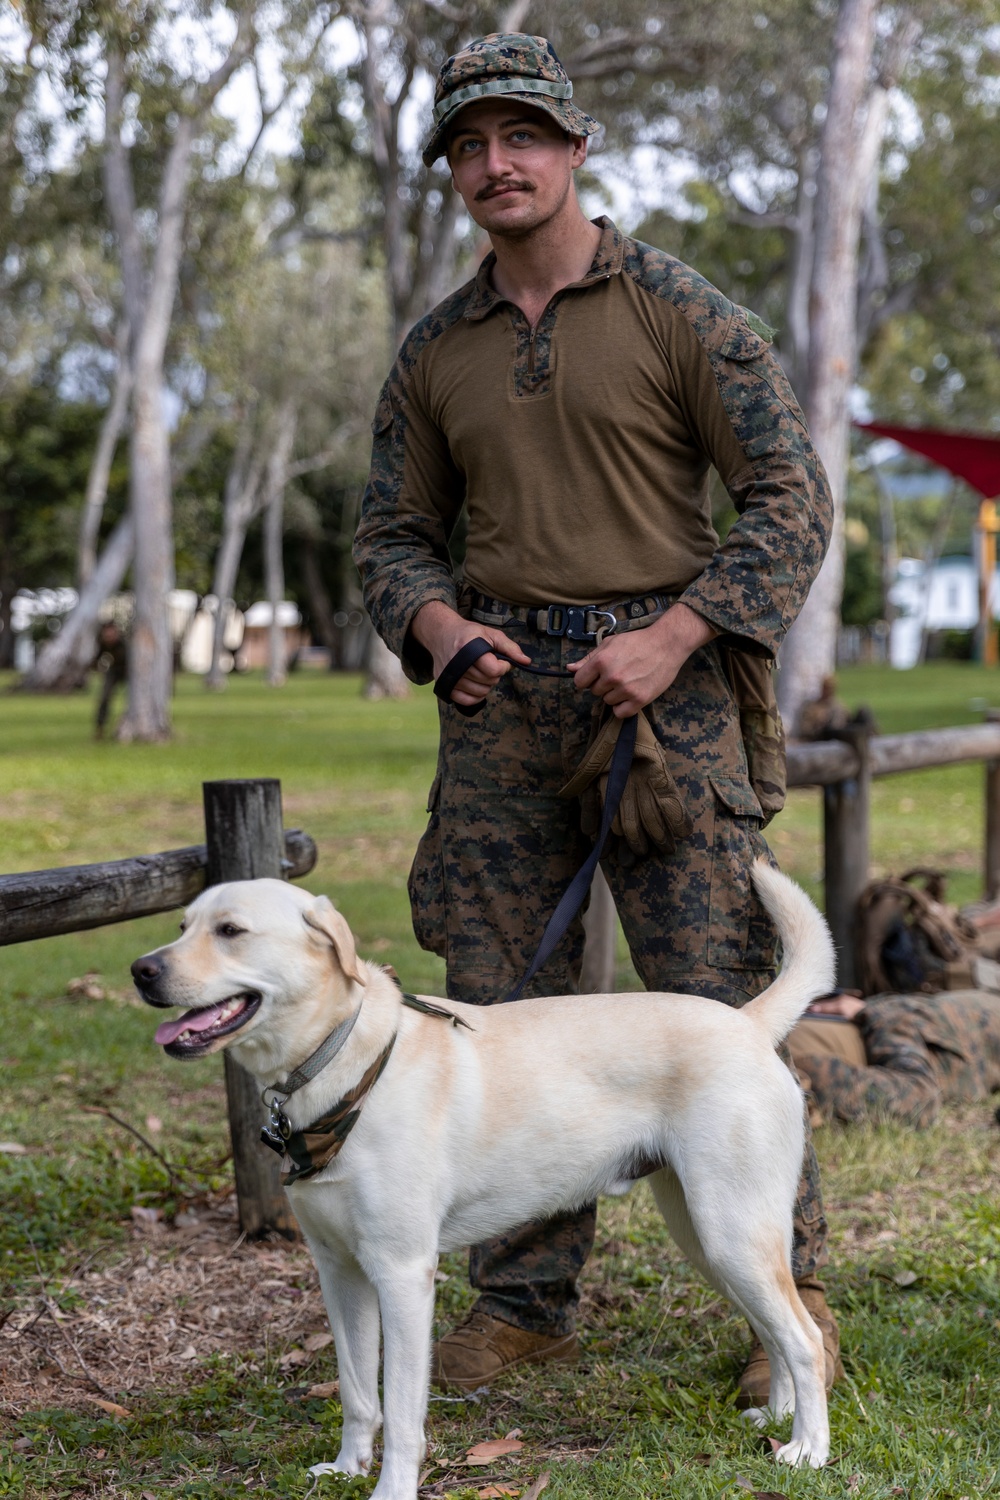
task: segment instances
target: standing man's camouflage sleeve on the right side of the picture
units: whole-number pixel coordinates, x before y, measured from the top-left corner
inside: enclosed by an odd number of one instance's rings
[[[699,330],[714,376],[699,422],[738,520],[682,597],[735,645],[775,656],[820,570],[834,502],[792,387],[753,322],[732,308],[724,324]],[[720,434],[718,408],[729,432]]]

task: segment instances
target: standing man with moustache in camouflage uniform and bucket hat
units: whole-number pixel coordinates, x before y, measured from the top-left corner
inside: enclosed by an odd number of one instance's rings
[[[550,45],[523,34],[480,38],[438,78],[424,162],[447,153],[493,252],[399,351],[355,560],[414,681],[477,636],[508,660],[480,657],[441,706],[414,926],[445,957],[451,998],[501,999],[589,849],[559,789],[594,710],[645,712],[691,832],[672,854],[604,861],[631,954],[651,990],[742,1005],[772,976],[774,932],[750,885],[763,812],[730,682],[756,676],[772,704],[768,666],[819,570],[831,498],[769,330],[687,266],[582,214],[573,171],[598,126],[571,93]],[[739,513],[723,543],[712,466]],[[463,506],[459,586],[448,537]],[[474,718],[459,711],[475,705]],[[526,993],[573,992],[582,946],[577,920]],[[438,1346],[435,1378],[472,1389],[571,1358],[594,1227],[591,1204],[475,1246],[480,1299]],[[793,1270],[832,1382],[825,1242],[810,1143]],[[763,1404],[762,1350],[751,1366],[742,1395]]]

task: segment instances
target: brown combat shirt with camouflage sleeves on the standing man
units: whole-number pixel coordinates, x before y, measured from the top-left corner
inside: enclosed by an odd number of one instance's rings
[[[819,570],[829,490],[768,339],[696,272],[600,224],[591,270],[537,328],[493,290],[490,255],[417,324],[382,390],[355,560],[418,681],[409,621],[456,602],[463,504],[465,579],[484,594],[682,594],[765,654]],[[721,546],[712,466],[741,513]]]

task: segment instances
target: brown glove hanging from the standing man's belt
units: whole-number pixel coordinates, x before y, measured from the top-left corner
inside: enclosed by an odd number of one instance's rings
[[[576,774],[559,790],[559,796],[580,798],[580,825],[591,838],[601,825],[607,771],[624,722],[613,714],[604,723],[595,717],[586,753]],[[612,832],[624,838],[636,858],[643,858],[651,849],[673,854],[678,842],[687,838],[693,826],[663,746],[646,716],[639,714],[633,764]]]

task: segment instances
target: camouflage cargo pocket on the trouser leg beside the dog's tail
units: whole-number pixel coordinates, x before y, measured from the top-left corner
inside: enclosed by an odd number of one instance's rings
[[[715,794],[708,962],[718,969],[768,969],[775,932],[750,884],[750,867],[766,854],[763,813],[745,777],[709,777]]]

